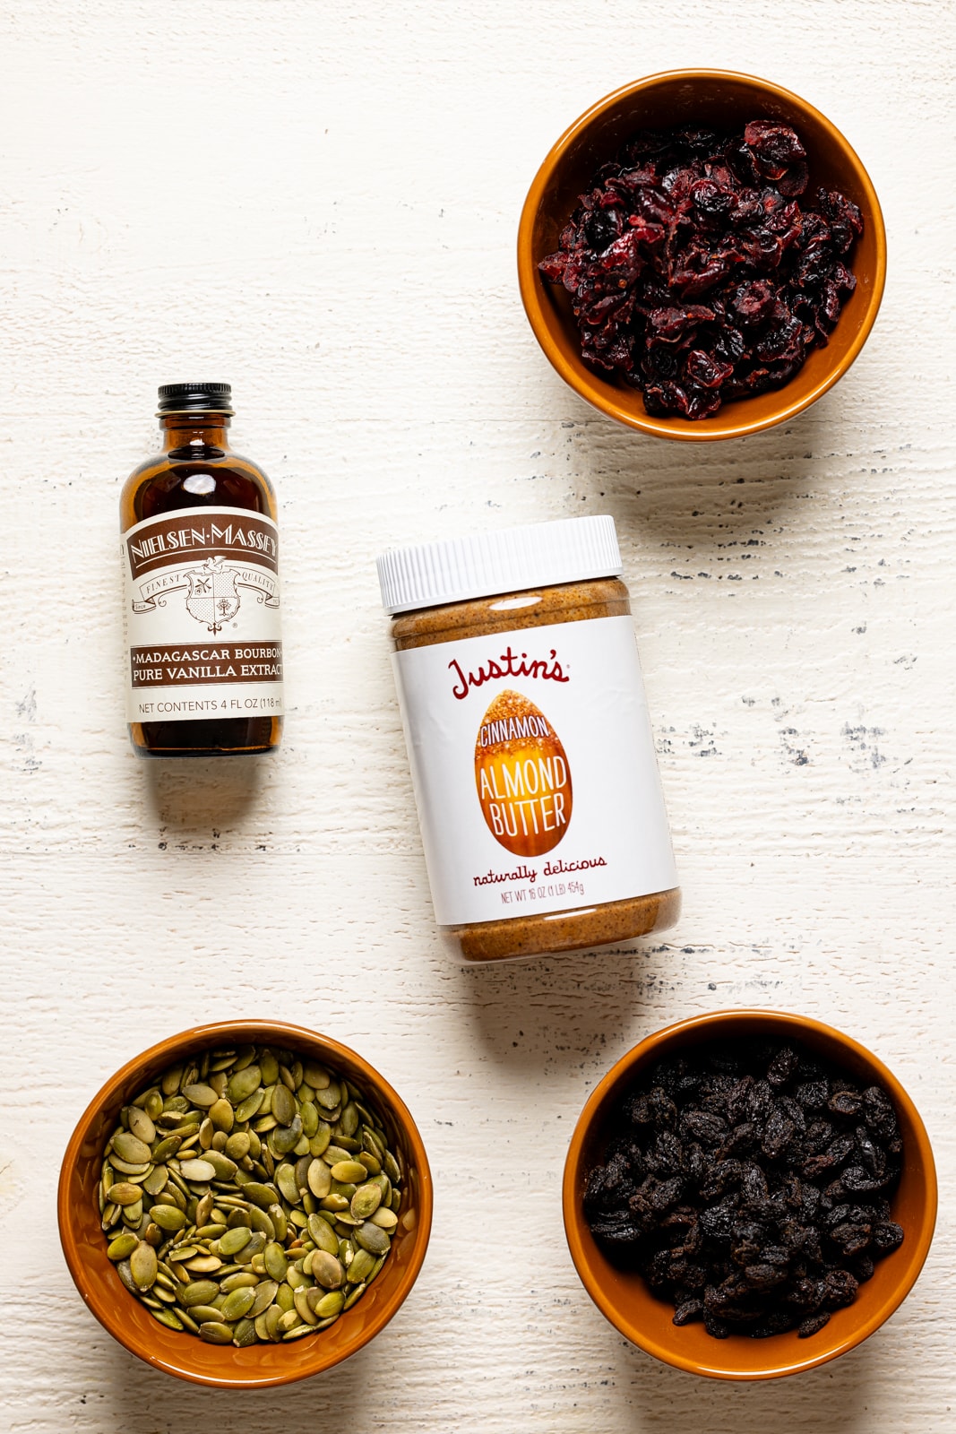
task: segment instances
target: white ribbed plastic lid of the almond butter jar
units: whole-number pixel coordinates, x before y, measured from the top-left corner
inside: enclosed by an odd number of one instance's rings
[[[391,548],[377,566],[381,601],[390,614],[622,572],[618,533],[608,513]]]

